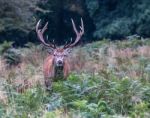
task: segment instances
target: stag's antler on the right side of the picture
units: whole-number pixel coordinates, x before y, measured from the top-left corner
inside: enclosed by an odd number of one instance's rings
[[[75,39],[75,41],[73,43],[69,43],[69,44],[65,45],[64,48],[71,48],[71,47],[75,46],[79,42],[79,40],[81,39],[82,35],[84,34],[84,24],[83,24],[82,18],[81,18],[81,26],[79,26],[80,27],[80,31],[79,32],[78,32],[78,30],[77,30],[77,28],[75,26],[74,20],[71,19],[71,21],[72,21],[73,30],[74,30],[74,32],[76,34],[76,39]]]

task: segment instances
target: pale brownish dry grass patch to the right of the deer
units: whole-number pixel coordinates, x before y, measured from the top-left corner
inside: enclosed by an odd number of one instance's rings
[[[88,45],[86,49],[90,46]],[[143,45],[137,48],[127,47],[120,49],[112,43],[105,50],[103,48],[95,48],[91,52],[87,52],[82,48],[77,49],[75,56],[72,58],[74,70],[90,73],[113,70],[116,75],[124,73],[133,79],[143,76],[140,58],[144,57],[147,61],[150,60],[150,46]],[[144,63],[147,62],[144,61]]]

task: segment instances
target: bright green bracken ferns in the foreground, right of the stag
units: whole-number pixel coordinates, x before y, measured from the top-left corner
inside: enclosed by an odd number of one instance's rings
[[[50,104],[50,107],[55,106],[55,109],[56,106],[73,107],[95,118],[104,113],[129,114],[128,111],[135,109],[134,106],[139,102],[137,100],[142,100],[141,96],[144,95],[140,81],[133,81],[128,77],[122,80],[105,80],[86,75],[80,77],[71,75],[65,82],[56,82],[53,84],[53,91],[56,93],[54,97],[58,95],[58,98],[51,101],[53,105]]]

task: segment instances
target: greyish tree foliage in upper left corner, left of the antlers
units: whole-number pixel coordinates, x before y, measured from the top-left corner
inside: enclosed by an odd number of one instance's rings
[[[39,0],[0,0],[0,39],[22,44],[34,28]]]

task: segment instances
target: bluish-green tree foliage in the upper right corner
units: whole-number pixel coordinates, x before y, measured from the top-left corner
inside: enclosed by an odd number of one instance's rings
[[[86,0],[98,38],[123,38],[133,34],[149,37],[149,0]],[[135,15],[136,14],[136,15]]]

